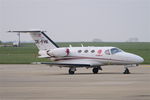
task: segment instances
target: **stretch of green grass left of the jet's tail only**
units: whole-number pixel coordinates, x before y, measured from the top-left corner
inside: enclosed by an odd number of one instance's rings
[[[38,49],[31,44],[24,47],[0,47],[0,64],[29,64],[32,62],[49,61],[39,59]]]

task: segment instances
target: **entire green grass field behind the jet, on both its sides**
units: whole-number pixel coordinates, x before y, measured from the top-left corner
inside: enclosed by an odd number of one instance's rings
[[[124,51],[131,52],[144,58],[143,64],[150,64],[150,42],[126,43],[126,42],[70,42],[57,43],[61,47],[81,46],[114,46]],[[39,59],[38,49],[32,43],[22,44],[23,47],[0,47],[0,64],[29,64],[32,62],[47,62],[48,59]]]

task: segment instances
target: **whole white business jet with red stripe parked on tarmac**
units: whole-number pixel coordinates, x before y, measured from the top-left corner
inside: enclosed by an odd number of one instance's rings
[[[98,73],[104,65],[124,65],[124,74],[130,74],[129,67],[138,66],[144,59],[138,55],[125,52],[116,47],[59,47],[44,31],[9,31],[29,33],[39,49],[39,58],[49,58],[52,62],[41,64],[68,67],[69,74],[74,74],[76,68],[93,68]]]

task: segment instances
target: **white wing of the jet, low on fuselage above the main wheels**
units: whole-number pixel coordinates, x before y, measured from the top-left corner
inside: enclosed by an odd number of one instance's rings
[[[55,61],[55,62],[40,62],[40,64],[47,64],[47,65],[59,65],[65,67],[94,67],[94,66],[101,66],[102,63],[93,60],[67,60],[67,61]]]

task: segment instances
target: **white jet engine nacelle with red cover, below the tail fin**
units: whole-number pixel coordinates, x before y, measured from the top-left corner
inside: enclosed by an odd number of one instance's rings
[[[70,53],[68,48],[57,48],[47,51],[47,54],[51,57],[64,57],[68,56]]]

